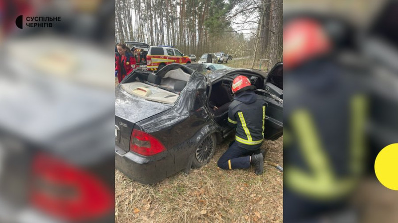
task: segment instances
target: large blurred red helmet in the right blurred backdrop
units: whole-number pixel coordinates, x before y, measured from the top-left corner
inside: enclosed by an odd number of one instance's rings
[[[299,18],[285,24],[283,29],[283,61],[288,69],[328,54],[331,40],[316,20]]]

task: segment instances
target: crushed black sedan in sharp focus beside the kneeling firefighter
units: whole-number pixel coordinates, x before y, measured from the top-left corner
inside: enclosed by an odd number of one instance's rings
[[[268,103],[264,138],[282,136],[283,100],[265,90],[260,71],[222,69],[203,75],[180,64],[157,74],[136,70],[115,88],[116,168],[153,184],[205,165],[217,143],[234,133],[227,117],[238,75],[249,77]]]

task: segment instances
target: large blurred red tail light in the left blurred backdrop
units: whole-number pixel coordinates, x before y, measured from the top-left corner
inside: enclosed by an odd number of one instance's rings
[[[32,162],[30,202],[56,218],[88,221],[111,213],[110,189],[92,173],[62,159],[40,153]]]

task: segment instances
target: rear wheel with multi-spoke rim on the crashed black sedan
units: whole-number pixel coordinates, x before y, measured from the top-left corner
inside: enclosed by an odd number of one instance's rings
[[[192,161],[193,168],[200,168],[208,163],[213,157],[216,149],[217,141],[214,134],[205,136],[200,140],[198,148],[194,153],[194,160]]]

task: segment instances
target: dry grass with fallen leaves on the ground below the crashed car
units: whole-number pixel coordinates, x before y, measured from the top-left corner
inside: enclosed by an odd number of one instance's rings
[[[229,137],[210,162],[190,174],[177,173],[154,185],[130,180],[115,170],[115,222],[283,222],[283,173],[265,164],[264,174],[254,168],[221,170],[217,160]],[[282,164],[283,137],[266,141],[268,161]]]

